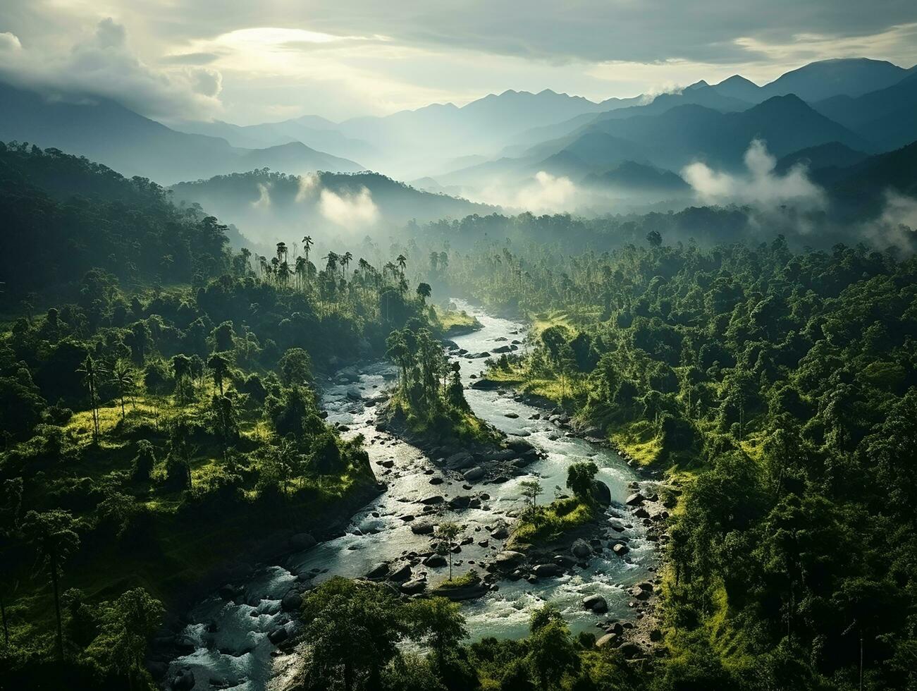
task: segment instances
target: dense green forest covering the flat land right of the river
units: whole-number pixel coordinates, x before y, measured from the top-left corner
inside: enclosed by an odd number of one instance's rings
[[[652,231],[601,254],[480,243],[431,271],[532,317],[536,351],[493,379],[600,425],[680,496],[654,684],[917,683],[915,272],[894,250]]]

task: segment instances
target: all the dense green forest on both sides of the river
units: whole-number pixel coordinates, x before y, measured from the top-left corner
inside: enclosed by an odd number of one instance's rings
[[[441,347],[475,327],[431,300],[454,294],[531,321],[491,379],[665,474],[658,654],[549,603],[524,639],[469,642],[446,599],[332,578],[302,598],[294,687],[917,685],[910,255],[723,243],[747,212],[697,208],[412,224],[381,265],[304,230],[268,256],[147,180],[22,145],[0,163],[0,688],[152,687],[149,641],[194,587],[375,496],[364,440],[317,403],[337,367],[388,358],[388,415],[494,440]],[[530,485],[517,533],[591,519],[594,474],[571,464],[542,507]]]

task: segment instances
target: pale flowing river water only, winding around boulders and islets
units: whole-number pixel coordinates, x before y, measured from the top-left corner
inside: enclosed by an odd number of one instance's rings
[[[523,323],[494,317],[460,300],[455,302],[459,308],[477,317],[482,325],[473,333],[454,338],[459,348],[470,353],[491,351],[512,340],[523,339]],[[463,381],[470,385],[474,381],[471,375],[481,373],[483,360],[459,358],[459,362]],[[267,689],[272,679],[288,674],[296,662],[294,655],[278,655],[268,640],[268,633],[289,619],[282,612],[281,599],[293,585],[304,580],[321,583],[332,575],[363,576],[375,564],[397,562],[407,552],[429,551],[430,536],[415,535],[403,517],[420,515],[424,507],[418,502],[425,497],[441,495],[448,501],[450,496],[467,495],[468,492],[462,489],[464,483],[457,474],[438,468],[409,444],[376,431],[376,407],[367,406],[367,403],[372,396],[392,385],[393,377],[391,365],[373,363],[363,368],[356,382],[336,383],[332,379],[322,395],[328,421],[346,426],[343,436],[364,435],[370,463],[377,477],[388,485],[387,491],[353,517],[345,535],[321,542],[304,552],[291,553],[281,563],[256,570],[242,584],[245,597],[241,604],[214,594],[193,607],[187,615],[193,623],[187,625],[182,636],[185,644],[189,648],[193,646],[194,650],[171,662],[167,679],[182,668],[190,668],[196,681],[195,689]],[[357,391],[362,396],[359,400],[356,400]],[[646,529],[640,521],[631,520],[622,506],[630,493],[628,484],[642,478],[612,449],[568,435],[547,421],[544,410],[516,400],[511,392],[467,388],[466,396],[478,417],[511,437],[524,436],[526,441],[544,451],[545,458],[531,463],[525,468],[526,474],[508,482],[476,486],[475,491],[485,491],[491,496],[480,508],[453,511],[446,505],[436,516],[437,520],[455,520],[465,526],[463,535],[474,538],[454,556],[455,574],[475,568],[485,557],[492,561],[501,549],[502,541],[499,540],[490,539],[486,547],[478,542],[488,539],[489,529],[500,522],[512,524],[513,518],[507,513],[514,513],[522,506],[521,481],[536,475],[545,488],[542,499],[549,501],[556,490],[564,487],[567,467],[575,461],[588,459],[599,466],[598,479],[611,490],[611,511],[624,517],[618,520],[619,523],[631,526],[622,533],[630,548],[625,558],[606,550],[602,555],[593,556],[589,567],[577,569],[575,575],[542,578],[535,584],[525,580],[502,580],[496,591],[463,604],[462,612],[472,640],[485,636],[524,637],[533,610],[546,601],[560,607],[572,631],[597,632],[594,626],[597,616],[580,604],[583,596],[592,594],[602,595],[608,602],[606,617],[632,618],[634,612],[628,607],[631,598],[626,590],[646,580],[651,575],[647,568],[657,563],[655,545],[645,539]],[[390,464],[391,468],[385,467]],[[431,484],[433,478],[442,478],[442,483]],[[414,568],[415,574],[418,571],[427,572],[428,580],[435,585],[447,578],[448,569],[421,565]]]

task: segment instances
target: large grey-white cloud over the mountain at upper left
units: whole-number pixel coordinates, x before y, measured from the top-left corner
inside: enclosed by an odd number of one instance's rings
[[[15,50],[0,64],[0,79],[13,84],[65,99],[111,98],[148,117],[209,117],[221,109],[220,72],[197,66],[150,67],[131,50],[127,29],[111,17],[69,50],[56,53],[33,50],[13,34],[0,34],[6,36],[12,38],[0,38],[0,50]]]

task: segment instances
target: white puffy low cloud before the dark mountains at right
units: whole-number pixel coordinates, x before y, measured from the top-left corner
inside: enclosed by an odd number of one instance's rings
[[[777,160],[760,139],[752,141],[746,150],[745,166],[745,173],[733,174],[714,171],[705,163],[695,162],[682,169],[681,177],[708,204],[788,204],[804,208],[819,208],[825,204],[822,189],[809,180],[805,166],[798,164],[785,174],[777,173]]]

